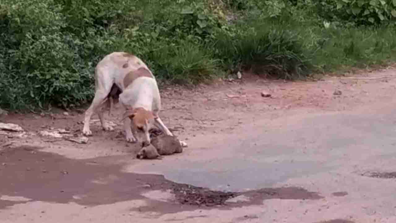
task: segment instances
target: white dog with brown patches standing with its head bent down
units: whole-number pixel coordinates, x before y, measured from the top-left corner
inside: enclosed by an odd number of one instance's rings
[[[149,131],[154,126],[173,136],[158,116],[161,98],[154,75],[141,59],[126,52],[108,54],[95,67],[95,96],[85,112],[83,134],[92,135],[89,121],[95,112],[103,130],[112,131],[104,120],[103,108],[109,108],[110,114],[118,102],[125,108],[121,121],[127,142],[137,142],[139,133],[143,135],[142,147],[149,146]]]

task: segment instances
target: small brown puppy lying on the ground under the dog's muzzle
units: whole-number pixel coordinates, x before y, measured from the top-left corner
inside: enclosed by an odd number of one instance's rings
[[[162,134],[158,130],[150,131],[152,146],[143,147],[136,158],[138,159],[162,159],[161,156],[183,152],[185,142],[177,139],[176,136]],[[184,143],[184,144],[183,144]]]

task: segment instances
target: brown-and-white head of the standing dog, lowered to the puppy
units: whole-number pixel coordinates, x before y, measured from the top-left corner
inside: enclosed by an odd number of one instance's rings
[[[156,118],[151,111],[144,108],[135,108],[126,110],[122,120],[129,118],[132,121],[132,128],[143,139],[142,147],[150,145],[150,129],[154,127],[154,119]]]

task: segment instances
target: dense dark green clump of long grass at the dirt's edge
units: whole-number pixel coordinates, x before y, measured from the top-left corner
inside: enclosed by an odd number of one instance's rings
[[[306,77],[311,67],[299,34],[274,29],[268,23],[234,36],[223,33],[215,48],[227,69],[242,67],[270,77],[299,79]]]

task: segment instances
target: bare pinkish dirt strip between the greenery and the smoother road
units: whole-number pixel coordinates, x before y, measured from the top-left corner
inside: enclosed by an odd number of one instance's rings
[[[254,122],[255,119],[275,119],[301,108],[343,111],[380,101],[394,94],[396,86],[390,81],[394,79],[392,74],[393,67],[377,71],[359,70],[346,73],[343,77],[324,76],[318,81],[267,80],[244,74],[241,80],[218,80],[212,85],[201,85],[194,89],[167,87],[161,90],[160,115],[179,139],[188,142],[198,135],[234,133],[243,123]],[[341,94],[338,95],[337,91]],[[271,96],[263,97],[261,92]],[[66,129],[72,134],[81,135],[84,111],[78,109],[65,113],[54,109],[41,114],[1,115],[0,122],[19,124],[32,134],[42,130]],[[0,134],[0,145],[16,146],[21,142],[29,142],[34,146],[49,146],[49,152],[76,159],[122,154],[131,154],[131,159],[134,159],[140,147],[125,142],[120,123],[122,112],[120,104],[117,104],[110,117],[105,116],[106,120],[116,125],[112,132],[102,131],[99,119],[94,115],[91,125],[93,136],[89,137],[88,144]],[[188,148],[186,151],[188,155]]]

